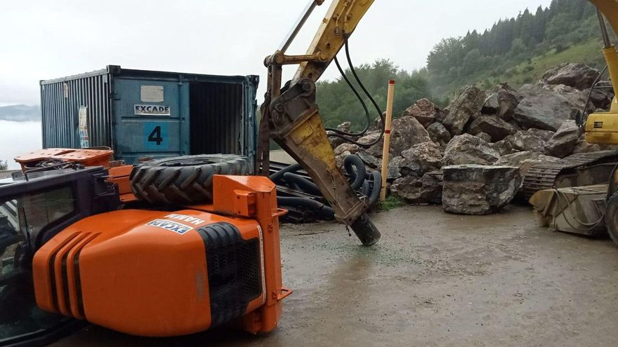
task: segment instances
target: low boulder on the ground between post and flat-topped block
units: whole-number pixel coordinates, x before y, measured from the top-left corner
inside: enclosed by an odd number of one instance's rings
[[[395,179],[390,192],[413,204],[442,203],[442,172],[428,172],[423,177]]]

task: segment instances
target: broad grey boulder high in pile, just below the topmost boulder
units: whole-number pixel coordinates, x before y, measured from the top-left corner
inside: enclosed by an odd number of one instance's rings
[[[523,97],[513,118],[523,128],[558,130],[564,121],[571,118],[569,100],[540,86],[525,85],[518,90]]]

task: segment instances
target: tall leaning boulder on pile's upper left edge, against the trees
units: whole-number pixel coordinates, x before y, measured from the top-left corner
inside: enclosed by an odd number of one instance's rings
[[[483,102],[485,102],[485,92],[473,86],[464,86],[449,105],[449,114],[442,124],[451,135],[461,135],[470,117],[480,113]]]

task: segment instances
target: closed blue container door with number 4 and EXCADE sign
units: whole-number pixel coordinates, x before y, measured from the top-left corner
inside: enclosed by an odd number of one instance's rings
[[[117,159],[188,154],[188,85],[178,81],[117,78],[114,81]]]

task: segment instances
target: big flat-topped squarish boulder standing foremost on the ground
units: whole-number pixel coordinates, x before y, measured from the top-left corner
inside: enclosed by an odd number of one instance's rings
[[[452,165],[442,169],[442,206],[460,215],[487,215],[513,200],[522,179],[512,166]]]

